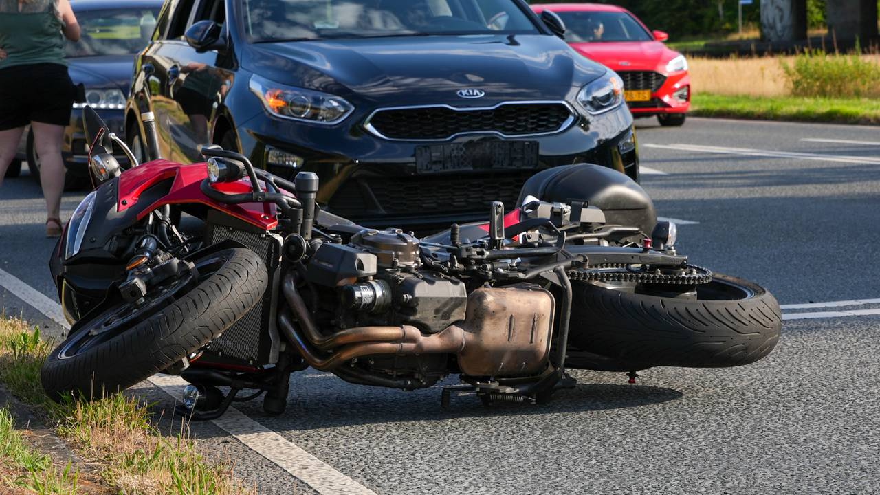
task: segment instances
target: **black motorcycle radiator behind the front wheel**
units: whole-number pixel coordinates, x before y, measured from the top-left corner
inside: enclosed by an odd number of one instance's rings
[[[275,364],[281,337],[275,326],[279,269],[281,267],[282,238],[275,233],[260,230],[236,218],[210,211],[205,231],[205,244],[234,240],[253,250],[266,262],[269,284],[262,299],[240,320],[226,329],[210,345],[209,354],[217,358],[240,359],[251,366]]]

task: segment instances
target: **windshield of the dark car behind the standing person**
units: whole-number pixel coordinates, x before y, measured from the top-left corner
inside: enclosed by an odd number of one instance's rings
[[[147,46],[156,27],[158,7],[77,11],[79,41],[68,41],[68,57],[135,54]]]

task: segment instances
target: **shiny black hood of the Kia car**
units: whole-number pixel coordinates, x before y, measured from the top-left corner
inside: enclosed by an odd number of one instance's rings
[[[289,41],[248,45],[246,69],[282,84],[401,103],[564,97],[605,73],[555,36],[475,35]],[[458,99],[460,100],[460,99]]]

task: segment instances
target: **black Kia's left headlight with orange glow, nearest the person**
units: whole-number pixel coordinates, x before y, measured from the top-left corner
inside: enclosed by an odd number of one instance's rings
[[[341,122],[355,109],[338,96],[282,85],[256,74],[251,76],[250,87],[270,114],[284,119],[334,124]]]

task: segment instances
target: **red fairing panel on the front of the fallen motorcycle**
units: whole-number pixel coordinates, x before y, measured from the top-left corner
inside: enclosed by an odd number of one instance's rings
[[[208,178],[204,163],[181,165],[165,159],[153,160],[137,166],[119,176],[119,194],[116,211],[122,212],[135,206],[141,194],[160,181],[173,179],[168,194],[141,208],[137,219],[141,220],[165,204],[202,203],[210,208],[223,211],[231,217],[255,225],[262,230],[272,230],[278,225],[275,218],[275,204],[272,203],[218,203],[202,193],[202,181]],[[218,183],[212,186],[225,194],[251,192],[250,181]]]

